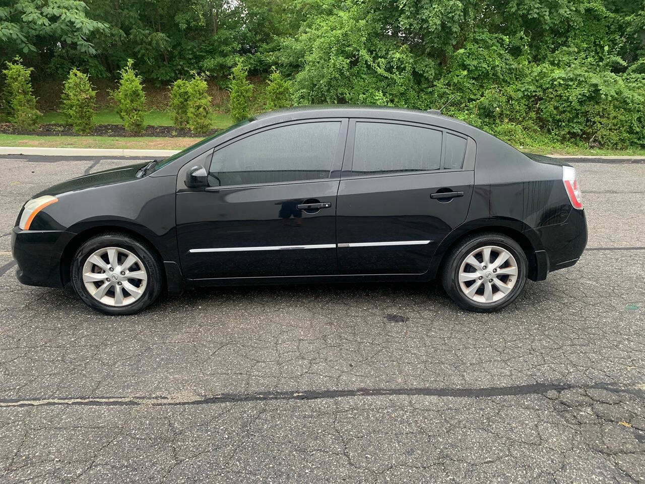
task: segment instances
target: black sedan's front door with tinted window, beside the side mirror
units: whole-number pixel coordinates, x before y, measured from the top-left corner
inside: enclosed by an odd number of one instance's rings
[[[346,127],[341,119],[291,123],[215,148],[203,163],[210,187],[177,192],[184,276],[336,274]]]

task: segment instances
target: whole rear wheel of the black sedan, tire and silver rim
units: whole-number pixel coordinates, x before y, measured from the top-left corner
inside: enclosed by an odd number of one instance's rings
[[[519,296],[527,267],[524,250],[510,237],[477,234],[448,254],[442,284],[460,307],[493,312]]]

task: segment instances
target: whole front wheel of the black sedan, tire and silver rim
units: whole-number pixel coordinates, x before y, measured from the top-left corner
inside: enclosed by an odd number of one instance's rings
[[[74,255],[72,285],[88,306],[106,314],[134,314],[150,306],[163,287],[154,252],[127,234],[88,239]]]

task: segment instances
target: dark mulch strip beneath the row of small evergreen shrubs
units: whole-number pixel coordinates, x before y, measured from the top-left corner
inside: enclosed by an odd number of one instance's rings
[[[96,125],[94,132],[89,135],[77,134],[72,131],[70,126],[59,125],[57,123],[43,123],[35,131],[22,131],[14,128],[10,123],[0,123],[0,133],[3,134],[35,134],[37,136],[152,136],[164,138],[186,138],[195,137],[203,138],[211,136],[212,134],[220,131],[219,129],[212,129],[206,134],[194,134],[188,129],[177,129],[173,126],[146,126],[141,134],[134,134],[126,132],[125,128],[121,125]]]

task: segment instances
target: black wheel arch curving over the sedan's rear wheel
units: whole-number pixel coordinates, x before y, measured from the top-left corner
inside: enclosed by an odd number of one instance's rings
[[[435,254],[430,261],[428,276],[434,279],[437,274],[441,273],[446,262],[446,255],[455,245],[466,237],[484,232],[497,232],[516,241],[524,250],[528,261],[528,278],[533,281],[541,279],[541,274],[545,272],[545,268],[541,267],[544,265],[544,261],[536,252],[543,250],[542,243],[530,227],[519,220],[512,219],[473,221],[453,230],[448,236],[444,237],[437,250],[435,250]],[[548,267],[546,270],[548,270]]]

